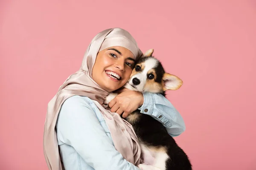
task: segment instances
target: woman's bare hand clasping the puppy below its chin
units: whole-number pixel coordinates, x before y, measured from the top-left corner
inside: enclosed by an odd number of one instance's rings
[[[122,117],[126,118],[130,113],[143,105],[144,97],[141,92],[131,91],[127,88],[124,88],[119,92],[121,93],[108,104],[111,108],[111,112],[116,112],[119,115],[123,113]]]

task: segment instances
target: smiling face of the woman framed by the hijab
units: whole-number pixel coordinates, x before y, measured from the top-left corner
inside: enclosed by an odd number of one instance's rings
[[[93,80],[108,92],[121,88],[130,78],[135,57],[120,46],[106,48],[97,54],[93,66]]]

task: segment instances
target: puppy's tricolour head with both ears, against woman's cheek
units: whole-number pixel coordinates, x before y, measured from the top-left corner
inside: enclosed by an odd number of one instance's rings
[[[148,91],[164,94],[166,90],[177,90],[182,80],[166,73],[160,61],[152,57],[153,49],[148,50],[135,65],[125,88],[134,91]]]

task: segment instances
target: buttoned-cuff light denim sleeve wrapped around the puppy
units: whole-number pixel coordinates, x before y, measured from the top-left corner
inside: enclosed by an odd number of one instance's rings
[[[172,136],[179,136],[186,129],[180,113],[171,102],[161,94],[143,92],[144,102],[139,108],[140,113],[148,114],[161,122]]]

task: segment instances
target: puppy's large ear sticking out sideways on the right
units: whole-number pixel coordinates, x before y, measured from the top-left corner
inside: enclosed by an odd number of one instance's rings
[[[163,91],[167,90],[177,90],[182,85],[183,81],[172,74],[165,73],[163,75]]]

